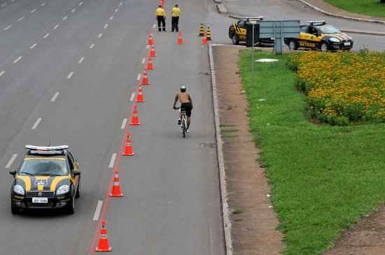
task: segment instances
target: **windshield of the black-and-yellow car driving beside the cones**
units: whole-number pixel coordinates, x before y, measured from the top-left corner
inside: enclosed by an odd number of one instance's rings
[[[68,175],[64,158],[25,159],[20,174],[26,175]]]

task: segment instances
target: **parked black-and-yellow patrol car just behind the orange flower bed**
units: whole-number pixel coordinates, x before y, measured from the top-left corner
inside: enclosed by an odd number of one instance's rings
[[[321,52],[336,50],[351,50],[353,40],[324,20],[309,21],[301,25],[300,38],[285,38],[285,44],[290,50],[309,48]]]

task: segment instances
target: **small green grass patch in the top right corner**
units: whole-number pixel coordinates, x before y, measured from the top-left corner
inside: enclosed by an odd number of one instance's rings
[[[351,13],[385,17],[385,3],[380,0],[325,0]]]

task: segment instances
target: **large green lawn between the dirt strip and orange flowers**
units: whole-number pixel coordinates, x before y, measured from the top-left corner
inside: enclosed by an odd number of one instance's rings
[[[251,85],[251,51],[241,51],[241,78],[255,143],[262,149],[285,254],[321,254],[345,228],[385,201],[385,125],[329,126],[304,117],[288,55],[258,52]],[[265,101],[258,101],[265,99]]]

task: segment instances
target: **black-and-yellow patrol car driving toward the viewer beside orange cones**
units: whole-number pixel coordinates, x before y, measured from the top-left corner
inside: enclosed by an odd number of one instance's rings
[[[25,147],[28,151],[20,167],[9,172],[14,177],[10,189],[11,212],[60,208],[73,214],[75,198],[81,192],[80,172],[69,147]]]

